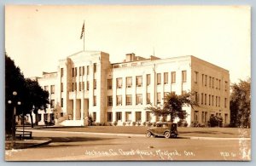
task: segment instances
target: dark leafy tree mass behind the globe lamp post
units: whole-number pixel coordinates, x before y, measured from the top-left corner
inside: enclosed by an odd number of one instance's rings
[[[13,95],[13,92],[17,92],[17,96]],[[37,113],[38,109],[47,108],[49,104],[49,94],[44,91],[38,84],[37,81],[33,81],[29,78],[25,78],[20,68],[15,66],[15,61],[11,60],[9,56],[5,53],[5,103],[8,100],[20,101],[21,105],[16,106],[16,115],[26,115],[31,114],[32,110]],[[34,108],[34,109],[33,109]],[[14,105],[6,104],[5,109],[5,130],[6,134],[10,134],[11,122],[13,118]],[[38,116],[36,116],[38,117]],[[32,118],[32,116],[31,116]],[[32,120],[32,119],[31,119]],[[33,127],[33,123],[32,123]]]

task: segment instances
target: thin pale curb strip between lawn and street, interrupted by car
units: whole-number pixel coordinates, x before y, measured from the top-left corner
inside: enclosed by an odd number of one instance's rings
[[[49,131],[49,130],[29,130],[38,133],[60,133],[60,134],[74,134],[74,135],[102,135],[102,136],[123,136],[123,137],[145,137],[145,135],[136,134],[117,134],[117,133],[92,133],[92,132],[79,132],[79,131]],[[251,138],[219,138],[219,137],[197,137],[197,136],[177,136],[177,139],[189,140],[251,140]]]

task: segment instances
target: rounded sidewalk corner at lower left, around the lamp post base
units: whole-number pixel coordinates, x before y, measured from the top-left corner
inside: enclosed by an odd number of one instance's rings
[[[12,141],[5,141],[5,150],[26,149],[30,147],[44,146],[51,142],[49,138],[34,137],[30,140],[15,140],[15,146],[11,147]]]

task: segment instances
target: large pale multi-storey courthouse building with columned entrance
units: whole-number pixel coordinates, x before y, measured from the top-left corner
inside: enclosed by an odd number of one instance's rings
[[[126,54],[123,62],[110,63],[107,53],[81,51],[59,60],[57,72],[44,72],[38,83],[49,91],[51,103],[46,113],[39,112],[39,124],[55,118],[54,108],[61,112],[55,123],[66,126],[87,125],[89,116],[102,124],[157,122],[162,118],[144,108],[162,105],[166,93],[184,91],[195,91],[199,104],[183,106],[187,123],[207,123],[211,115],[230,123],[229,71],[192,55],[146,59]]]

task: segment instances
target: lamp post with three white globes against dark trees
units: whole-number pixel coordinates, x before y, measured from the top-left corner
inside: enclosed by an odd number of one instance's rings
[[[13,110],[13,116],[12,116],[12,146],[15,146],[15,118],[16,118],[16,107],[15,105],[20,105],[20,101],[16,101],[16,95],[18,93],[16,91],[13,92],[13,101],[8,100],[8,104],[11,105],[13,103],[14,110]]]

